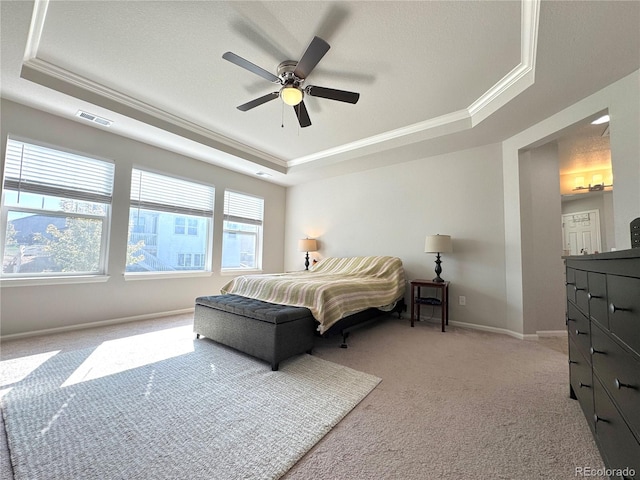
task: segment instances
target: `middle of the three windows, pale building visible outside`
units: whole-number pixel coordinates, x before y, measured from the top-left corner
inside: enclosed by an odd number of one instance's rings
[[[134,169],[126,272],[210,270],[214,194],[208,185]]]

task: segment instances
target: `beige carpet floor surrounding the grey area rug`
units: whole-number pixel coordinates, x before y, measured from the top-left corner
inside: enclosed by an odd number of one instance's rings
[[[2,356],[85,348],[189,322],[182,316],[7,342]],[[576,467],[602,467],[568,396],[566,340],[455,327],[441,333],[439,325],[412,329],[390,317],[354,331],[348,349],[339,344],[318,339],[314,355],[382,382],[283,479],[564,480],[576,478]]]

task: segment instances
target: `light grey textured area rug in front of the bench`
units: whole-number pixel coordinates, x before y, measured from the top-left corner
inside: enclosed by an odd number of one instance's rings
[[[51,352],[5,378],[16,480],[277,479],[380,382],[306,354],[272,372],[207,339],[145,348]]]

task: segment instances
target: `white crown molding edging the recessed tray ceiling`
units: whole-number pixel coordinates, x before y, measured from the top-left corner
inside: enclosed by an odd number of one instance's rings
[[[38,47],[49,1],[35,0],[34,2],[34,12],[21,73],[23,78],[207,145],[223,154],[248,160],[281,173],[286,173],[287,169],[291,167],[322,159],[341,161],[346,158],[366,155],[372,151],[387,150],[399,145],[473,128],[533,85],[535,81],[541,0],[522,0],[520,63],[469,107],[285,161],[38,58]]]

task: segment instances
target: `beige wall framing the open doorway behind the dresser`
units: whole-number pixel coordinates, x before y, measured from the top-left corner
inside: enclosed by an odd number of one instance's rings
[[[629,223],[640,216],[640,71],[609,85],[547,120],[511,137],[502,144],[505,205],[505,246],[507,276],[507,322],[517,332],[530,333],[536,329],[536,317],[525,312],[523,305],[555,295],[558,286],[546,282],[546,295],[525,288],[525,269],[532,255],[522,241],[522,222],[527,206],[522,205],[520,185],[527,182],[527,171],[520,169],[520,151],[540,143],[555,132],[563,130],[591,115],[608,110],[611,117],[611,164],[614,175],[613,228],[618,250],[631,246]],[[549,214],[549,221],[555,214]],[[524,219],[523,219],[524,216]],[[557,217],[556,217],[557,218]],[[549,223],[551,225],[551,223]],[[547,232],[540,231],[534,242],[545,242]],[[554,270],[555,256],[534,259],[539,269]],[[535,276],[545,282],[541,275]],[[536,298],[534,295],[538,295]],[[524,300],[526,299],[526,300]],[[559,312],[555,314],[558,316]]]

